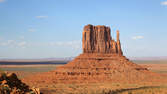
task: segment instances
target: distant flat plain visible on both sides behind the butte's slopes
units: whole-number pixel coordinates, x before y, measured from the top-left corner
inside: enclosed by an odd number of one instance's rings
[[[156,73],[161,73],[161,74],[166,74],[167,75],[167,64],[139,64],[143,67],[148,68],[149,70],[156,72]],[[48,72],[51,70],[56,69],[57,66],[62,66],[62,65],[0,65],[0,69],[3,71],[8,71],[8,72],[15,72],[16,74],[19,75],[19,77],[25,77],[31,74],[35,74],[38,72]]]

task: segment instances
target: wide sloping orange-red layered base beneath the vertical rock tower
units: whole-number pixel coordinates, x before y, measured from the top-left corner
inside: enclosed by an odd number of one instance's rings
[[[24,81],[33,84],[154,83],[163,82],[164,78],[118,54],[84,53],[54,71],[33,75]]]

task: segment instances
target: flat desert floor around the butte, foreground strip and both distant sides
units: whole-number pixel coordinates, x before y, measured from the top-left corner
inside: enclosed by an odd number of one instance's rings
[[[167,61],[134,61],[149,70],[167,76]],[[20,79],[56,69],[61,65],[1,65],[3,71],[14,72]],[[37,85],[44,94],[167,94],[164,84],[82,83]]]

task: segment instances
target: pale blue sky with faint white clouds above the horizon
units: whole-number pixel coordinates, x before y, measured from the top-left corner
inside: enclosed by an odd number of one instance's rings
[[[119,30],[127,57],[167,56],[167,0],[0,0],[0,58],[77,56],[87,24]]]

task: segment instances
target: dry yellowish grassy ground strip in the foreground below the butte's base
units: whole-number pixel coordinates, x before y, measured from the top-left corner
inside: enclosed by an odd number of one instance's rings
[[[166,94],[167,87],[119,83],[55,84],[41,87],[49,94]]]

